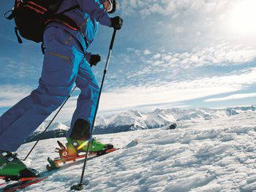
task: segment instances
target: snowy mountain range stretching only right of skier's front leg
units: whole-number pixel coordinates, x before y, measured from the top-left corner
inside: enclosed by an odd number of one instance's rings
[[[222,118],[255,110],[255,105],[252,105],[251,107],[227,107],[225,109],[156,109],[153,112],[129,110],[127,112],[121,112],[115,115],[97,117],[94,134],[159,128],[161,126],[170,125],[177,121],[180,122],[179,124],[182,124],[187,120],[211,120],[213,118]]]

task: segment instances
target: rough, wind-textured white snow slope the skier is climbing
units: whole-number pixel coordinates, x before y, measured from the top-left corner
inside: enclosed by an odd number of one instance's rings
[[[84,191],[256,191],[255,122],[256,112],[245,112],[187,120],[174,130],[97,135],[102,142],[124,148],[88,161]],[[132,142],[135,139],[138,144]],[[53,151],[57,140],[40,141],[26,164],[45,172],[47,157],[58,156]],[[64,138],[59,140],[65,143]],[[19,157],[33,144],[21,146]],[[48,173],[47,180],[21,191],[70,191],[80,181],[82,166],[83,160],[65,164]]]

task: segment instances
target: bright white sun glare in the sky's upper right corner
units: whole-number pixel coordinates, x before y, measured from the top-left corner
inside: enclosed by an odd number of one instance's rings
[[[256,0],[234,2],[227,15],[227,30],[243,36],[256,33]]]

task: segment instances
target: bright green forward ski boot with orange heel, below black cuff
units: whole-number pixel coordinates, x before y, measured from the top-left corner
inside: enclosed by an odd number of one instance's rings
[[[90,145],[89,145],[90,143]],[[89,153],[97,153],[97,155],[104,154],[106,150],[113,148],[111,144],[102,144],[96,139],[88,141],[67,138],[66,147],[58,141],[60,148],[56,148],[61,158],[76,157],[81,152],[86,152],[89,145]]]

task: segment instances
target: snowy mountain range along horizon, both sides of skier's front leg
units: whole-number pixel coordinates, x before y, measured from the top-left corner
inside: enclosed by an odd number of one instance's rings
[[[179,108],[156,109],[153,112],[140,112],[129,110],[115,115],[99,116],[96,119],[94,134],[111,134],[123,131],[134,131],[148,128],[159,128],[178,122],[178,126],[186,127],[186,122],[190,120],[211,120],[231,115],[243,114],[247,111],[255,111],[256,105],[250,107],[227,107],[225,109],[197,108],[181,110]],[[42,123],[36,131],[26,140],[31,142],[41,136],[42,131],[49,121]],[[53,122],[43,139],[65,137],[70,126],[70,121],[59,123]]]

